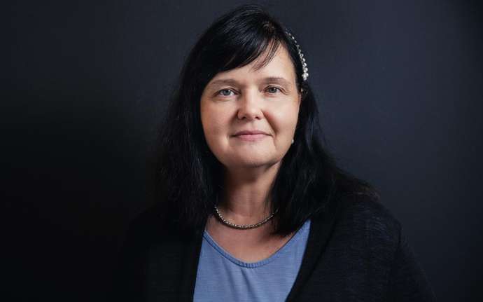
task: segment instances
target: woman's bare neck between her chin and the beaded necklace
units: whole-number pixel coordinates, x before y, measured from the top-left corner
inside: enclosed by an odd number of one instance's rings
[[[272,214],[269,191],[279,166],[225,170],[225,191],[218,206],[225,219],[253,224]]]

